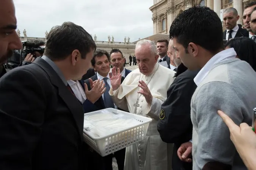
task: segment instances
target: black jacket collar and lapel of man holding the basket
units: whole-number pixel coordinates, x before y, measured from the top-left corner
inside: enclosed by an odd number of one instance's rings
[[[66,106],[69,108],[70,112],[72,113],[74,120],[77,125],[77,130],[79,131],[79,134],[81,135],[81,140],[83,136],[83,107],[80,104],[80,102],[77,100],[77,98],[71,93],[71,91],[68,90],[66,85],[63,83],[61,78],[58,76],[58,74],[53,70],[53,68],[40,57],[36,58],[36,60],[33,62],[37,65],[39,65],[49,76],[49,79],[52,83],[52,85],[57,88],[58,95],[61,97],[61,99],[65,102]]]

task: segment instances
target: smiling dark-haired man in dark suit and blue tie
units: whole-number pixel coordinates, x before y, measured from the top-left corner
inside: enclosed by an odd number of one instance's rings
[[[92,81],[95,82],[96,80],[104,80],[106,91],[102,96],[97,100],[94,105],[98,108],[98,110],[104,109],[104,108],[116,108],[118,109],[115,104],[113,103],[108,91],[111,88],[110,83],[110,55],[107,51],[97,49],[94,53],[93,59],[91,60],[91,64],[94,67],[94,69],[97,71],[97,73],[91,77]],[[123,64],[122,64],[123,66]],[[124,77],[121,77],[121,82],[123,82]],[[90,80],[85,80],[86,85],[88,86],[88,90],[90,90]],[[125,149],[119,150],[114,153],[116,157],[116,162],[118,164],[118,170],[124,169],[124,157],[125,157]],[[99,154],[97,154],[95,151],[92,152],[90,162],[92,162],[91,165],[93,167],[89,167],[90,170],[112,170],[112,158],[113,155],[107,155],[104,157],[101,157]]]

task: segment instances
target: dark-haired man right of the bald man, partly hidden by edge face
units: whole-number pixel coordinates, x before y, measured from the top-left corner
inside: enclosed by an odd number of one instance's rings
[[[256,7],[256,1],[252,1],[248,3],[243,10],[243,25],[249,32],[249,38],[254,36],[255,34],[251,31],[250,27],[250,21],[251,21],[251,12],[253,11],[253,8]]]

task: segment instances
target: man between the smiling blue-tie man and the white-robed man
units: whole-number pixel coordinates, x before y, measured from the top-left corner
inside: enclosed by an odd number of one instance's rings
[[[114,48],[110,51],[110,62],[112,66],[115,67],[116,69],[119,68],[120,74],[122,74],[123,77],[126,77],[132,71],[124,68],[124,63],[125,63],[124,59],[125,58],[123,56],[123,53],[119,49]]]

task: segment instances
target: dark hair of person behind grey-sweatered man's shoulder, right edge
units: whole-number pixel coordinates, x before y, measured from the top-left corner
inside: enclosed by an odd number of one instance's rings
[[[246,61],[256,71],[256,43],[248,37],[229,40],[225,47],[234,48],[240,60]]]

